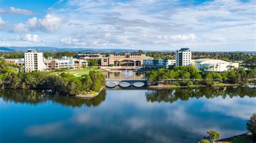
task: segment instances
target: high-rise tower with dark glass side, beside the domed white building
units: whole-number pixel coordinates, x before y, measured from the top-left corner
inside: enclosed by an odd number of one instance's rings
[[[181,48],[176,51],[175,66],[191,66],[192,53],[189,48]]]

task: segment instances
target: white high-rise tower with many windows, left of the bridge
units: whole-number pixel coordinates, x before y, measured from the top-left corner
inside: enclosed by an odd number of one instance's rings
[[[39,53],[36,49],[28,49],[28,52],[24,53],[25,59],[25,72],[29,71],[44,71],[46,66],[43,61],[43,53]]]

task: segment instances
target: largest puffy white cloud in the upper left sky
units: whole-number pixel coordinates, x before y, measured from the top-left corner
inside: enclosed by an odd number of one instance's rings
[[[43,19],[37,19],[36,17],[30,18],[26,21],[26,24],[17,24],[13,31],[14,32],[29,32],[29,31],[54,31],[59,28],[62,23],[62,19],[52,16],[50,14],[46,15]]]

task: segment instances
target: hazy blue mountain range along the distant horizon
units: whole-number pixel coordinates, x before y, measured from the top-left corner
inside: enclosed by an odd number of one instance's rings
[[[117,48],[56,48],[56,47],[0,47],[0,52],[26,52],[28,49],[37,49],[39,52],[91,52],[91,53],[107,53],[107,52],[138,52],[138,49],[117,49]],[[149,50],[143,50],[144,52],[152,52]],[[175,52],[176,50],[163,50],[159,52]],[[196,52],[196,51],[193,51]],[[203,51],[197,51],[203,52]],[[235,51],[234,53],[245,52]],[[247,51],[250,53],[256,53],[255,51]],[[219,52],[222,53],[222,52]]]

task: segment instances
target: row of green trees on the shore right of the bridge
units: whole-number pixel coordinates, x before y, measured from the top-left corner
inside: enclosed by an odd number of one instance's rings
[[[245,70],[244,68],[230,66],[227,71],[217,73],[203,72],[194,67],[178,66],[171,70],[158,69],[147,71],[145,77],[150,84],[163,82],[164,84],[172,84],[172,87],[190,87],[192,85],[212,86],[214,82],[244,84],[254,82],[253,79],[256,78],[256,70]],[[178,82],[175,82],[175,80]]]

